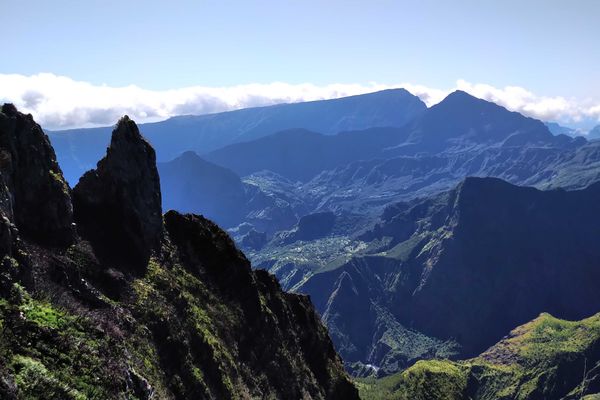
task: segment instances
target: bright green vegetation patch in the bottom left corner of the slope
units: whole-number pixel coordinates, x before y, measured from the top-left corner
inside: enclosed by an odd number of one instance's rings
[[[121,347],[90,321],[31,297],[18,284],[0,303],[0,315],[0,359],[19,398],[106,398],[115,385],[106,357],[122,357]]]

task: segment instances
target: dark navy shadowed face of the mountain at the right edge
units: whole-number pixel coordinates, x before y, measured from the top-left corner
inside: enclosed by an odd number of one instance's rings
[[[600,184],[544,192],[470,178],[455,193],[452,236],[432,247],[407,309],[415,327],[459,338],[471,356],[540,312],[581,319],[600,308]]]

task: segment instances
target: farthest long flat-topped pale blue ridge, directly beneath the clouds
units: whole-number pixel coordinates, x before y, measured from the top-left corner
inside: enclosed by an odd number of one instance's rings
[[[173,117],[142,124],[158,160],[169,161],[185,151],[205,154],[220,147],[257,139],[292,128],[334,134],[375,126],[402,126],[426,109],[404,89],[320,100],[278,104],[224,113]],[[74,184],[93,168],[110,141],[111,128],[49,132],[67,180]]]

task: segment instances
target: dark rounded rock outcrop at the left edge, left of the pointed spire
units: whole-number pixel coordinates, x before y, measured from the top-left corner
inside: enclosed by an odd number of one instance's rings
[[[5,104],[0,113],[2,211],[22,235],[53,246],[73,242],[70,189],[54,150],[31,115]]]

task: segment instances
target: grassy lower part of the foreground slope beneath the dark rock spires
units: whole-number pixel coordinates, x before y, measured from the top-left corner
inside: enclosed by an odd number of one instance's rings
[[[66,257],[84,276],[93,268],[86,246],[72,246]],[[294,344],[286,349],[272,336],[276,343],[237,347],[238,335],[249,334],[240,305],[177,261],[151,259],[130,288],[118,301],[101,295],[107,306],[94,310],[80,308],[67,292],[50,298],[12,284],[0,297],[0,398],[16,392],[19,399],[135,400],[143,396],[134,386],[143,392],[147,383],[158,399],[275,398],[270,385],[281,374],[277,365],[291,365],[290,386],[305,387],[307,398],[321,397],[304,360],[292,354]],[[261,323],[285,329],[285,294],[257,294]],[[244,351],[253,352],[258,364],[240,361]],[[261,357],[273,365],[261,366]],[[343,380],[335,364],[322,368]]]

